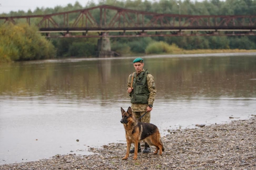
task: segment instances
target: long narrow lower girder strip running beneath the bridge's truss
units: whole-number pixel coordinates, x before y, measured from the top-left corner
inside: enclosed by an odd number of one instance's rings
[[[184,27],[185,28],[185,27]],[[192,27],[193,28],[193,27]],[[219,27],[222,28],[222,27]],[[57,28],[56,28],[57,29]],[[62,35],[56,35],[56,33],[61,32]],[[82,35],[78,35],[78,32],[83,32]],[[91,35],[89,32],[98,32],[98,35]],[[112,33],[116,32],[116,33]],[[128,33],[129,32],[129,33]],[[69,29],[62,29],[56,32],[42,31],[41,33],[47,33],[48,37],[154,37],[154,36],[256,36],[256,29],[155,29],[151,27],[147,30],[112,30],[109,31],[108,28],[103,28],[102,30],[97,30],[96,28],[80,31],[72,31]],[[50,35],[50,33],[53,33]],[[72,33],[76,33],[72,35]]]

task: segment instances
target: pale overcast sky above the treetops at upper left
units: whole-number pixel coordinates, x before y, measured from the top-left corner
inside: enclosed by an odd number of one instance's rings
[[[65,7],[67,4],[74,5],[76,1],[85,7],[89,0],[0,0],[0,13],[18,12],[19,10],[27,12],[29,9],[34,11],[37,7],[54,8],[58,5]],[[98,3],[98,0],[95,0],[95,3]]]

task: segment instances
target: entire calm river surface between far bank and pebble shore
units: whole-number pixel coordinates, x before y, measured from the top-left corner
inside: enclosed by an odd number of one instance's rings
[[[130,106],[126,84],[134,71],[132,61],[2,64],[0,164],[70,151],[88,154],[88,147],[124,142],[120,107]],[[151,122],[162,135],[167,129],[256,114],[256,56],[148,57],[144,61],[157,86]]]

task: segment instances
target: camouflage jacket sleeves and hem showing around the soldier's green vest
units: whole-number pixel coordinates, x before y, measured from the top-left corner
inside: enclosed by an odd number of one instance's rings
[[[144,69],[143,69],[144,71]],[[131,87],[131,75],[129,75],[128,77],[128,83],[127,83],[127,89],[129,87]],[[138,78],[138,76],[136,76],[136,78]],[[152,104],[154,103],[155,100],[155,95],[157,94],[157,90],[155,87],[155,81],[154,81],[154,77],[151,74],[147,75],[147,86],[148,86],[148,91],[149,91],[149,97],[148,97],[148,104]],[[147,106],[148,104],[140,104],[140,103],[132,103],[131,104],[131,108],[132,111],[147,111]]]

